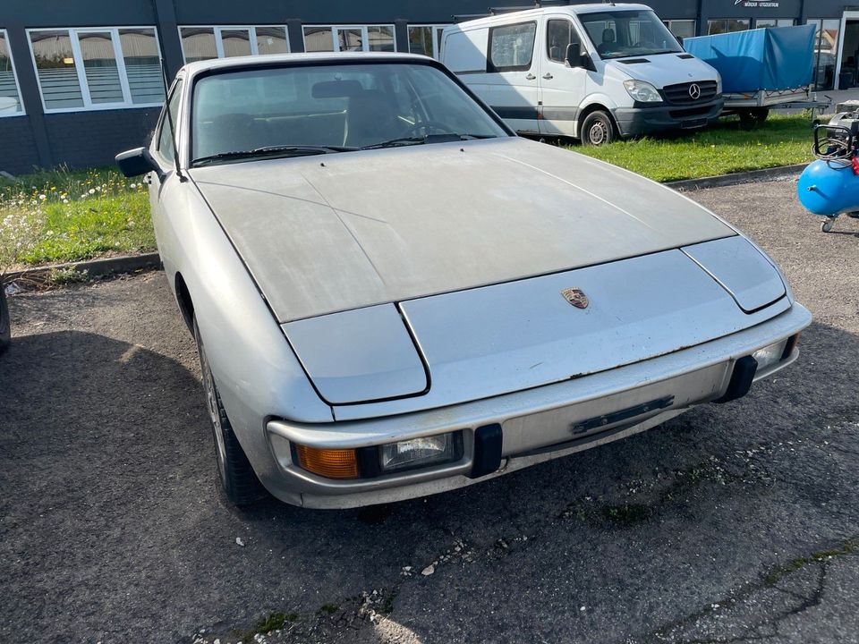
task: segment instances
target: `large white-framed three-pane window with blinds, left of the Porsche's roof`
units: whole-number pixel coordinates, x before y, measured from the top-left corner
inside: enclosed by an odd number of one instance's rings
[[[28,30],[28,35],[46,112],[164,102],[154,28]]]

